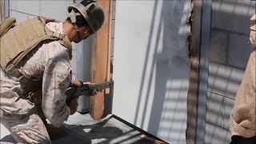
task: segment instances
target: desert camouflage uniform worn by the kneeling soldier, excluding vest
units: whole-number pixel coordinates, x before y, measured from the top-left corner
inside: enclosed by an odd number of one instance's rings
[[[46,26],[64,34],[62,22]],[[42,82],[42,111],[52,126],[61,126],[70,115],[65,91],[74,81],[66,47],[57,41],[46,41],[26,55],[18,70],[28,79]],[[1,123],[17,142],[50,143],[49,134],[35,110],[34,102],[22,98],[24,83],[0,68]],[[40,84],[41,85],[41,84]]]

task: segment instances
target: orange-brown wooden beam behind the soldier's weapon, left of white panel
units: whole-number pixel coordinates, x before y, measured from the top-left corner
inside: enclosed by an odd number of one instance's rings
[[[91,53],[91,82],[106,82],[110,76],[110,25],[112,16],[112,1],[113,0],[98,0],[102,6],[105,14],[105,21],[103,26],[92,40],[92,53]],[[90,115],[94,119],[100,119],[104,110],[104,94],[98,93],[90,98]]]

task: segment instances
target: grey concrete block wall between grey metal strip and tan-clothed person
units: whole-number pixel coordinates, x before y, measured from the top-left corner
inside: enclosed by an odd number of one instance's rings
[[[213,0],[206,143],[230,142],[230,113],[252,50],[248,42],[255,5],[250,0]]]

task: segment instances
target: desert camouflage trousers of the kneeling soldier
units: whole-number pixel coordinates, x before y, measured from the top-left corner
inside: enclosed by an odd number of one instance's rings
[[[46,126],[38,116],[34,102],[20,98],[15,78],[0,69],[0,122],[18,143],[51,143]]]

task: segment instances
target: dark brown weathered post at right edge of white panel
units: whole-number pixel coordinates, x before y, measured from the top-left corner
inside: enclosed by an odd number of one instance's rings
[[[187,95],[187,126],[186,143],[194,144],[196,141],[197,114],[198,114],[198,88],[200,70],[202,0],[192,2],[192,39],[190,45],[190,82]]]

